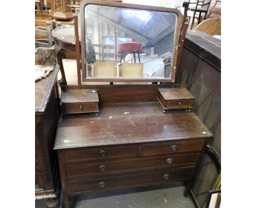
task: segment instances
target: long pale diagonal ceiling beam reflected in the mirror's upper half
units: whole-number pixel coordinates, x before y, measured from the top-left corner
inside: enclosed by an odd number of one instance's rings
[[[135,31],[133,31],[123,25],[117,24],[117,22],[114,22],[113,20],[110,20],[107,17],[103,17],[100,14],[95,13],[92,10],[90,10],[90,13],[92,14],[92,16],[98,17],[99,19],[107,22],[109,25],[112,25],[113,27],[122,30],[127,35],[132,36],[133,39],[135,39],[137,42],[139,42],[141,44],[147,44],[149,42],[149,40],[146,37],[144,37],[143,35],[140,35],[140,34],[136,33]]]

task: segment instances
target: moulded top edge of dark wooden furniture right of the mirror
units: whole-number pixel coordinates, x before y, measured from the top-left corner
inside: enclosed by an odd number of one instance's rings
[[[188,30],[184,47],[196,53],[197,56],[218,70],[221,69],[221,41],[219,39],[200,30]]]

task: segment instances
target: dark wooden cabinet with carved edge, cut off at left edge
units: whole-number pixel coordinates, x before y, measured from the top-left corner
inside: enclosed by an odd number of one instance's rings
[[[47,203],[59,204],[60,189],[57,154],[53,150],[57,120],[59,119],[59,92],[56,77],[58,68],[35,83],[35,197],[54,198]],[[55,206],[56,205],[56,206]]]

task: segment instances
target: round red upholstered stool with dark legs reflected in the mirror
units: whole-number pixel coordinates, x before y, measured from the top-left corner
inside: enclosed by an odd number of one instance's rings
[[[125,53],[133,53],[134,62],[136,63],[135,53],[138,53],[139,63],[141,63],[141,59],[139,58],[139,53],[142,52],[142,44],[139,42],[124,42],[123,44],[118,44],[118,53],[121,53],[120,63],[124,57],[125,61]]]

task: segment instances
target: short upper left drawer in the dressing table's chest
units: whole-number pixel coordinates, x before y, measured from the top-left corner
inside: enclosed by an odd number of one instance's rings
[[[95,159],[106,159],[115,157],[133,157],[137,155],[137,145],[134,146],[123,146],[117,148],[92,148],[80,150],[77,148],[75,150],[65,151],[65,161],[66,162],[77,162],[77,161],[87,161]]]

